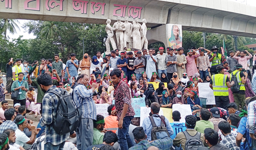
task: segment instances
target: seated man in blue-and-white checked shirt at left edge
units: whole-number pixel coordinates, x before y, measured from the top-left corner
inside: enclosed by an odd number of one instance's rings
[[[6,121],[1,124],[0,126],[0,133],[3,133],[5,129],[11,128],[14,131],[18,129],[17,125],[13,122],[13,120],[16,118],[16,113],[14,111],[14,108],[7,109],[5,111],[5,119]]]

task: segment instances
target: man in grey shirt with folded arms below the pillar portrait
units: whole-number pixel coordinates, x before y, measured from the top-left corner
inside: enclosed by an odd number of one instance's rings
[[[177,56],[173,54],[173,48],[169,49],[169,55],[166,56],[167,78],[171,79],[174,72],[177,72]]]

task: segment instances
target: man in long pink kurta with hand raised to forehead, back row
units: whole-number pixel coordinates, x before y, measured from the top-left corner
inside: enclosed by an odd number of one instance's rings
[[[196,53],[196,55],[193,55],[193,52]],[[196,62],[195,59],[199,57],[199,53],[196,52],[194,49],[189,50],[189,55],[186,56],[187,59],[187,65],[186,65],[186,73],[187,76],[192,78],[192,76],[197,73],[197,68],[196,68]]]

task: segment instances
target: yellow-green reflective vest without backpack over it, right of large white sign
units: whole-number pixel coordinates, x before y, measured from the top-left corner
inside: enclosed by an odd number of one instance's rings
[[[214,74],[213,80],[213,94],[214,96],[228,96],[228,87],[226,84],[227,75]]]

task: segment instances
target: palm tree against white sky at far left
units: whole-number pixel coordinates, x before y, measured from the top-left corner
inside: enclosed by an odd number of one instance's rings
[[[0,32],[1,34],[4,33],[6,38],[7,30],[10,31],[11,34],[16,34],[16,28],[20,31],[19,21],[17,19],[0,19]]]

